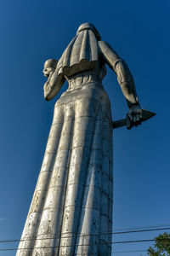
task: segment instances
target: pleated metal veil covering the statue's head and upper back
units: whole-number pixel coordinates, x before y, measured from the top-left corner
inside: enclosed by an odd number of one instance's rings
[[[68,77],[92,69],[98,61],[98,40],[100,35],[91,23],[83,23],[77,30],[77,36],[65,49],[57,65],[58,74]]]

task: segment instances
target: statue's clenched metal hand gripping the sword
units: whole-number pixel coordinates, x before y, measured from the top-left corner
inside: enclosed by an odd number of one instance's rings
[[[130,119],[130,124],[127,125],[127,129],[131,129],[133,125],[140,125],[142,121],[142,109],[139,107],[139,105],[132,105],[129,108],[127,117]]]

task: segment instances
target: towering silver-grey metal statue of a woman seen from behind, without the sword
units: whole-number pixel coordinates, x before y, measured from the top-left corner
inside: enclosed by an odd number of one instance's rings
[[[54,107],[17,256],[111,256],[112,119],[102,84],[105,64],[116,73],[132,125],[140,123],[142,112],[127,64],[101,41],[94,25],[82,24],[59,61],[44,65],[47,101],[65,79],[69,87]]]

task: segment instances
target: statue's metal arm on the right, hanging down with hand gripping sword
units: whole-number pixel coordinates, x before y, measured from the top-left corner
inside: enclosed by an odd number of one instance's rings
[[[123,61],[122,58],[116,54],[116,51],[104,41],[99,41],[99,49],[105,62],[116,73],[118,83],[120,84],[122,93],[127,101],[129,118],[134,125],[139,125],[142,118],[142,110],[139,105],[133,76],[130,73],[126,62]]]

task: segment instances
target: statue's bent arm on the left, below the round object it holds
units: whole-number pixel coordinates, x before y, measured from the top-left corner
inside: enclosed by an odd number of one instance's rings
[[[49,74],[48,81],[43,86],[44,98],[50,101],[56,96],[65,83],[65,77],[58,75],[57,71]]]

